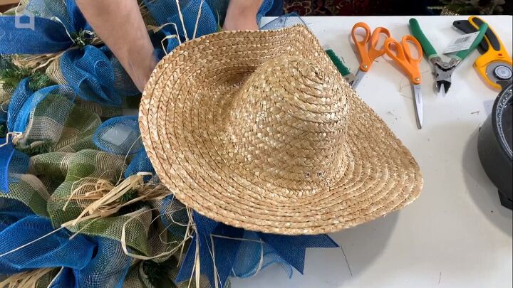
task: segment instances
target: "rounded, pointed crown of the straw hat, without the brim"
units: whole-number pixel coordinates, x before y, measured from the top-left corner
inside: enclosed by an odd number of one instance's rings
[[[257,68],[225,110],[232,159],[289,191],[330,186],[347,150],[348,106],[336,73],[289,55]]]

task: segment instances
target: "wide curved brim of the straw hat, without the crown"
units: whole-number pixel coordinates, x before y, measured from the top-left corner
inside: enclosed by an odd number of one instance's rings
[[[227,100],[259,65],[285,54],[331,70],[346,88],[346,169],[326,191],[290,193],[259,171],[234,165],[219,142]],[[237,228],[331,233],[403,208],[423,185],[410,151],[343,80],[304,26],[224,31],[182,44],[147,82],[139,122],[160,181],[186,206]]]

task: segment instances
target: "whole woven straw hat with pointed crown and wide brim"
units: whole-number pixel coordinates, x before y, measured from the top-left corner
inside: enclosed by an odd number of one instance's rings
[[[152,73],[139,122],[162,183],[237,228],[330,233],[412,203],[423,184],[304,26],[182,44]]]

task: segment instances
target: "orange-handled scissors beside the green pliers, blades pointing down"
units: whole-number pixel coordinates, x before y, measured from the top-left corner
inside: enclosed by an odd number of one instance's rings
[[[413,57],[412,51],[410,50],[410,43],[413,44],[415,50],[417,50],[417,57]],[[420,43],[413,36],[403,36],[399,43],[394,38],[388,38],[385,41],[385,52],[397,63],[408,77],[413,87],[413,94],[415,95],[415,117],[417,118],[417,127],[422,129],[423,126],[423,100],[422,90],[420,89],[420,83],[422,82],[422,76],[420,75],[420,61],[423,58],[423,50]]]

